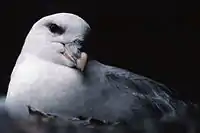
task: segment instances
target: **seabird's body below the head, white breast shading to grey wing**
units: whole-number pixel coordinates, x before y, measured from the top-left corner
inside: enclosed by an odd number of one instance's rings
[[[13,71],[6,100],[10,110],[18,110],[21,116],[28,116],[27,105],[31,105],[62,117],[118,121],[133,117],[133,110],[144,111],[152,101],[163,104],[163,108],[154,105],[160,113],[174,113],[169,90],[146,77],[95,60],[88,62],[82,74],[33,55],[24,56]]]

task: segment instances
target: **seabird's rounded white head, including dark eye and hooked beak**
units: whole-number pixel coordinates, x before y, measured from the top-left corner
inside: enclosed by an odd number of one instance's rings
[[[80,51],[90,26],[82,18],[70,13],[57,13],[37,21],[22,49],[39,58],[59,65],[83,70],[87,54]]]

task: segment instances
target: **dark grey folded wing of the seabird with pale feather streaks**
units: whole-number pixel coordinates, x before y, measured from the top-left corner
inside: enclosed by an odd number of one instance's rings
[[[138,104],[144,105],[141,111],[152,112],[164,119],[166,116],[178,115],[186,106],[173,96],[170,88],[147,77],[111,66],[105,67],[105,76],[116,88],[131,90],[133,97],[140,99],[140,103],[133,103],[133,108]]]

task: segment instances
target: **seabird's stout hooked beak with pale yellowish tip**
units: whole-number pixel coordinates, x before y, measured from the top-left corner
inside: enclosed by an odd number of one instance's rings
[[[67,59],[73,62],[74,66],[80,71],[84,71],[87,64],[87,54],[80,52],[75,44],[64,44],[64,52],[62,53]]]

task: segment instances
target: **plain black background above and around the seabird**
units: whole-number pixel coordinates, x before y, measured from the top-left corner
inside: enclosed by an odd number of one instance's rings
[[[89,51],[102,63],[131,70],[199,102],[198,4],[176,0],[11,1],[0,5],[0,91],[31,26],[41,17],[74,13],[92,28]]]

